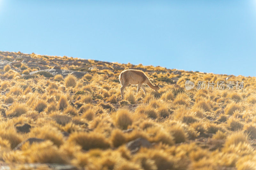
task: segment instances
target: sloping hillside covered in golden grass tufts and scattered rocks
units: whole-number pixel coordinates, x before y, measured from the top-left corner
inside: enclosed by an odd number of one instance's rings
[[[122,100],[124,69],[159,94],[130,85]],[[0,79],[1,168],[256,167],[255,77],[0,52]]]

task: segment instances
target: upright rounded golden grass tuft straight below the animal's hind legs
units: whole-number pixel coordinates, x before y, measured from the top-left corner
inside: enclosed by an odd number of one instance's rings
[[[117,110],[115,124],[121,129],[127,129],[132,124],[131,113],[128,110]]]

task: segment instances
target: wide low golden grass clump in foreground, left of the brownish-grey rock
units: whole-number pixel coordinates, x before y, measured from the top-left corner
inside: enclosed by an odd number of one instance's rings
[[[110,143],[106,140],[106,138],[102,134],[95,132],[74,132],[69,136],[68,141],[75,142],[76,144],[82,146],[84,150],[93,148],[107,149],[110,147]]]

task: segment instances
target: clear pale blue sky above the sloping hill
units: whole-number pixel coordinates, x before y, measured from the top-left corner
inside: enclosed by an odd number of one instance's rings
[[[256,76],[256,2],[0,0],[0,51]]]

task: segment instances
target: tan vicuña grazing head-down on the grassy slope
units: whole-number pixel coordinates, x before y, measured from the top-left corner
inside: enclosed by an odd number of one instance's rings
[[[122,73],[119,75],[119,81],[122,85],[122,87],[120,88],[121,90],[121,98],[124,98],[124,88],[127,87],[129,84],[138,84],[138,88],[137,88],[137,94],[140,90],[140,87],[142,88],[142,90],[145,93],[146,96],[146,89],[143,87],[143,83],[147,84],[151,89],[155,90],[157,93],[159,90],[159,83],[158,85],[156,85],[156,83],[154,83],[154,85],[148,80],[148,77],[145,75],[145,73],[143,71],[140,70],[124,70],[122,71]]]

